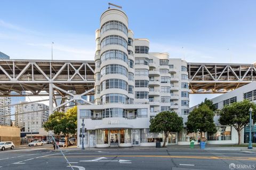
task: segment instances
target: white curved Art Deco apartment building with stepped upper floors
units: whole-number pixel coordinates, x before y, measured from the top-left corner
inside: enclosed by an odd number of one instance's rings
[[[102,13],[95,41],[95,102],[78,106],[78,134],[81,117],[87,128],[85,147],[155,145],[163,134],[149,133],[150,116],[164,110],[188,114],[186,61],[149,53],[148,39],[134,39],[119,9]],[[178,143],[177,135],[170,133],[169,144]]]

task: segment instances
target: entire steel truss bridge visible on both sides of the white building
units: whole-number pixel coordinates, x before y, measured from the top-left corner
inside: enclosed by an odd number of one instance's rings
[[[49,111],[94,94],[94,61],[0,60],[0,97],[49,96]],[[253,64],[188,63],[190,93],[226,93],[256,80]],[[12,91],[16,93],[12,93]],[[62,98],[60,104],[57,98]],[[55,102],[55,108],[53,108]]]

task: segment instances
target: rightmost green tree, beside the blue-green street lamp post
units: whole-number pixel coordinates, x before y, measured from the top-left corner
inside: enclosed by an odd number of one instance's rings
[[[241,144],[241,130],[249,123],[249,109],[252,108],[252,118],[255,123],[256,119],[256,104],[249,100],[234,102],[226,105],[220,111],[219,123],[221,125],[233,126],[238,133],[238,144]]]

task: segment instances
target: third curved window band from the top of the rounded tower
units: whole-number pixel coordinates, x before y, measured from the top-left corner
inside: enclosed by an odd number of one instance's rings
[[[106,60],[122,60],[126,63],[128,63],[128,56],[125,52],[120,50],[108,50],[102,53],[101,55],[101,62],[104,62]]]

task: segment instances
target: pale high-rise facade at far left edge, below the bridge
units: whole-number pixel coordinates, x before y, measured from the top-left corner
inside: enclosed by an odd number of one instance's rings
[[[11,104],[11,98],[10,97],[4,97],[0,98],[0,103],[2,106],[10,105]],[[11,126],[11,108],[10,107],[1,107],[0,108],[0,116],[6,116],[0,118],[0,125],[3,126]]]

